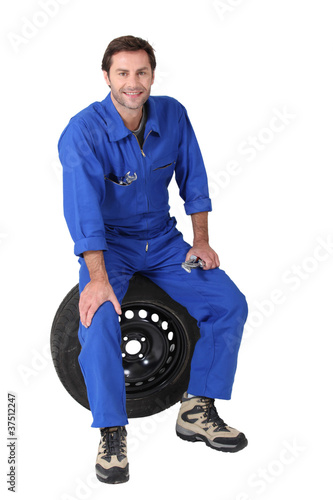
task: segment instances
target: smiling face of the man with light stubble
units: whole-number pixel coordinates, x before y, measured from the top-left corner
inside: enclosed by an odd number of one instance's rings
[[[154,73],[145,50],[118,52],[112,56],[109,74],[103,73],[117,108],[118,103],[127,109],[138,109],[150,96]]]

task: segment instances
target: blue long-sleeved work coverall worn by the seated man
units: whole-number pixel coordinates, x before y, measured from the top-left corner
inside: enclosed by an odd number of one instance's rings
[[[173,98],[150,96],[146,109],[142,147],[110,94],[75,115],[60,137],[64,214],[81,265],[80,293],[90,281],[87,250],[104,251],[120,304],[135,272],[150,278],[200,328],[188,392],[230,399],[246,299],[219,268],[182,269],[191,245],[170,217],[168,185],[175,173],[186,214],[211,211],[206,171],[185,108]],[[126,425],[121,330],[111,302],[99,307],[89,328],[80,323],[79,340],[92,427]]]

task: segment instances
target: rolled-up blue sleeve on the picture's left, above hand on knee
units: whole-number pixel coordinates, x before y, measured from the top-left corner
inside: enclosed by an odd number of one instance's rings
[[[69,122],[58,143],[63,166],[64,215],[74,241],[74,254],[107,250],[101,204],[105,196],[104,171],[94,153],[83,122]]]

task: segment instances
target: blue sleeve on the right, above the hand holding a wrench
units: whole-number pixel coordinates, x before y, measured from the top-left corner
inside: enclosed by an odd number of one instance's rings
[[[205,165],[194,130],[183,106],[179,119],[179,134],[175,178],[179,194],[185,202],[185,212],[187,215],[196,212],[211,212],[212,203],[209,198]]]

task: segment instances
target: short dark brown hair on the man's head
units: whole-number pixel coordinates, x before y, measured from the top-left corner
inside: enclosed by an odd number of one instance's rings
[[[112,63],[111,59],[114,54],[122,51],[135,52],[137,50],[145,50],[147,52],[151,69],[154,71],[156,68],[155,50],[150,43],[143,40],[143,38],[132,35],[120,36],[109,43],[103,56],[102,70],[109,73]]]

